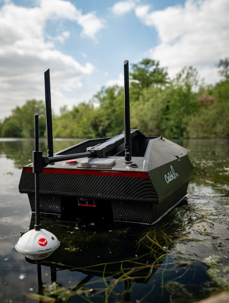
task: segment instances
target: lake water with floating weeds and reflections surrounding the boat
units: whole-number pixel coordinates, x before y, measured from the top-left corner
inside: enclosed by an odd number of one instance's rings
[[[54,151],[81,141],[54,140]],[[0,139],[0,302],[187,303],[228,289],[229,140],[175,142],[195,168],[187,201],[152,227],[41,218],[61,245],[37,265],[14,248],[34,225],[18,191],[33,140]]]

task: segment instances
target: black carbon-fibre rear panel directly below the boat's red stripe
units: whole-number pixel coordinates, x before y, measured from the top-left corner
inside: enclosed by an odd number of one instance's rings
[[[19,191],[34,190],[34,174],[22,172]],[[158,203],[150,178],[43,173],[40,174],[40,194]]]

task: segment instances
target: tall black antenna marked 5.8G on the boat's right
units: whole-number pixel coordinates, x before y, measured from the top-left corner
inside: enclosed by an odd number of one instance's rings
[[[125,163],[131,162],[129,61],[124,61]]]

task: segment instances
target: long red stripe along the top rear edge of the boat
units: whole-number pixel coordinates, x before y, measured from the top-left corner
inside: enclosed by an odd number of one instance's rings
[[[33,172],[32,167],[24,167],[23,172]],[[97,171],[87,169],[68,169],[68,168],[43,168],[43,173],[65,174],[65,175],[90,175],[90,176],[111,176],[111,177],[132,177],[146,178],[149,176],[146,172],[138,171]]]

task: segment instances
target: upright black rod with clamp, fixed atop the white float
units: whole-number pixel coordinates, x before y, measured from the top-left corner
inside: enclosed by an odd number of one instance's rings
[[[39,115],[34,115],[34,141],[35,151],[33,151],[33,173],[35,173],[35,230],[40,230],[40,201],[39,201],[39,174],[42,173],[42,151],[39,151]]]

